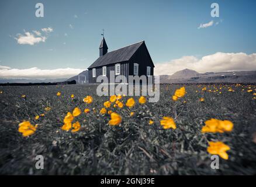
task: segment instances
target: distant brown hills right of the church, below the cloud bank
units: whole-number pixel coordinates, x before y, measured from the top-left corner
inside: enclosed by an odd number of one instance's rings
[[[256,71],[206,72],[199,74],[193,70],[181,70],[172,75],[160,75],[160,83],[256,83]]]

